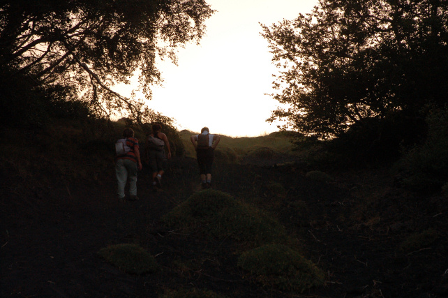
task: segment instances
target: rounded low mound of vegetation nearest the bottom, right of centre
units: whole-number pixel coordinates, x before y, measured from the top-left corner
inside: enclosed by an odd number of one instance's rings
[[[304,292],[324,283],[323,272],[300,253],[281,244],[268,244],[243,253],[239,267],[262,285]]]

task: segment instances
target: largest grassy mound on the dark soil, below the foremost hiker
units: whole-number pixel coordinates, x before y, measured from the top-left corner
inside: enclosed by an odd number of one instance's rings
[[[287,239],[285,229],[272,216],[214,189],[194,193],[163,221],[170,228],[255,245]]]

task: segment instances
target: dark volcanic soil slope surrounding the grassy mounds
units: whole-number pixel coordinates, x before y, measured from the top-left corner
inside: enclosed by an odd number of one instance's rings
[[[96,182],[53,185],[31,181],[13,164],[4,169],[0,296],[159,297],[179,288],[227,297],[448,296],[445,198],[395,188],[386,170],[333,172],[331,183],[306,179],[298,165],[217,164],[215,171],[214,188],[259,204],[301,241],[306,258],[327,272],[323,288],[304,295],[262,288],[236,266],[232,244],[165,230],[161,216],[199,190],[195,161],[178,158],[162,191],[151,190],[146,168],[140,172],[137,202],[116,200],[113,171]],[[272,181],[287,191],[279,202],[269,193]],[[400,249],[426,230],[437,240]],[[162,270],[134,276],[96,254],[119,243],[140,244]]]

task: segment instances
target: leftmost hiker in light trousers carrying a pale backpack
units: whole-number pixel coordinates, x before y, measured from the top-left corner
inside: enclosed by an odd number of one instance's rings
[[[140,160],[140,150],[138,146],[138,140],[134,137],[134,131],[132,128],[125,128],[123,131],[123,137],[126,139],[126,145],[129,147],[129,151],[117,156],[115,163],[115,173],[117,174],[118,181],[118,198],[121,201],[126,200],[124,195],[124,188],[126,182],[129,179],[129,199],[131,201],[138,200],[137,197],[137,169],[142,170],[142,161]]]

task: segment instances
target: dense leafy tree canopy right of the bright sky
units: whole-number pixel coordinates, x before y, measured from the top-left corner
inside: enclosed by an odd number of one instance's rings
[[[368,118],[426,105],[448,92],[448,2],[320,0],[312,13],[262,24],[281,106],[267,121],[331,137]]]

